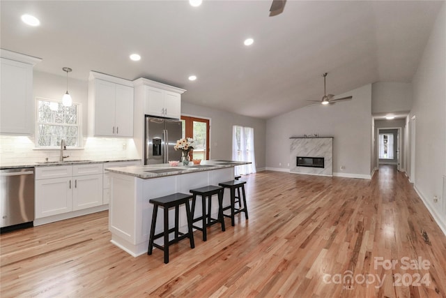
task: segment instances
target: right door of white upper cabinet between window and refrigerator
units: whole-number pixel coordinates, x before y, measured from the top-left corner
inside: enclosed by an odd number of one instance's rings
[[[133,88],[116,84],[115,134],[133,137]]]

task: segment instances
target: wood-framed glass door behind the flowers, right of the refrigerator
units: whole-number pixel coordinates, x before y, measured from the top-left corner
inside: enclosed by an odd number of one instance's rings
[[[201,119],[197,117],[185,117],[182,116],[183,121],[183,137],[192,137],[194,139],[195,145],[192,151],[192,159],[209,159],[209,119]]]

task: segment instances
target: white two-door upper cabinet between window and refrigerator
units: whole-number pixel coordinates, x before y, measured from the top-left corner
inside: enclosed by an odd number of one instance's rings
[[[133,84],[119,77],[90,72],[89,135],[133,136]]]

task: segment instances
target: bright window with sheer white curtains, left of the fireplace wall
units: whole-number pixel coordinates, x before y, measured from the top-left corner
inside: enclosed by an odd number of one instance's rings
[[[250,161],[249,165],[238,165],[235,174],[251,174],[256,172],[256,157],[254,154],[254,128],[233,126],[232,131],[233,161]]]

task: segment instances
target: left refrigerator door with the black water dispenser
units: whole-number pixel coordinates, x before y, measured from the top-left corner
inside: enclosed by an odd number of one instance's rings
[[[164,119],[146,116],[144,165],[164,163]]]

